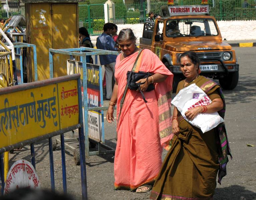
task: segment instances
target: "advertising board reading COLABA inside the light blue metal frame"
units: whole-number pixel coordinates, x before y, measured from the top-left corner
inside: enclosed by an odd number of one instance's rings
[[[100,83],[99,83],[99,65],[86,63],[87,71],[87,107],[100,107]],[[80,73],[81,83],[83,82],[82,62],[75,60],[67,60],[67,73]],[[82,86],[82,101],[83,86]],[[90,138],[101,141],[102,137],[102,122],[103,115],[100,110],[88,111],[88,135]]]

